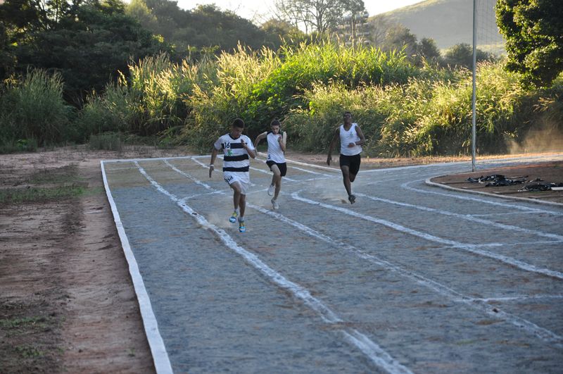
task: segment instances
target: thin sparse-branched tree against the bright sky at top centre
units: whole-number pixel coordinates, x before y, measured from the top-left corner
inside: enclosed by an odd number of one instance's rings
[[[305,33],[324,34],[336,28],[345,15],[365,12],[363,0],[277,0],[277,15]]]

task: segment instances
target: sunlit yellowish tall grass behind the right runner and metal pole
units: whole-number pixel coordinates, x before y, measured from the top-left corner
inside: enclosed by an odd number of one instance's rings
[[[505,72],[500,63],[481,63],[477,77],[479,149],[506,151],[505,138],[517,136],[521,129],[514,113],[524,89],[517,75]],[[303,97],[308,106],[291,111],[284,120],[293,142],[303,150],[326,149],[347,110],[367,137],[368,155],[468,154],[471,147],[472,77],[467,70],[424,73],[387,86],[348,89],[329,83]]]

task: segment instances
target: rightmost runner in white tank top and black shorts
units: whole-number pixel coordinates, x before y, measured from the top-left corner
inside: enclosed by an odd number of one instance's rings
[[[332,148],[337,139],[340,139],[340,169],[342,170],[344,187],[348,192],[348,201],[350,201],[350,204],[354,204],[356,197],[352,194],[352,182],[354,182],[360,170],[360,153],[362,152],[362,144],[365,144],[365,137],[358,123],[352,123],[352,113],[344,113],[343,125],[336,127],[329,146],[328,165],[332,161]]]

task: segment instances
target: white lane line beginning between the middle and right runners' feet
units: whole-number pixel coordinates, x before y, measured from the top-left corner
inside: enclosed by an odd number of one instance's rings
[[[560,273],[559,271],[550,270],[548,268],[538,268],[537,266],[533,266],[530,263],[526,263],[524,261],[517,260],[516,258],[512,258],[512,257],[508,257],[508,256],[502,256],[501,254],[495,254],[495,253],[490,252],[490,251],[485,251],[483,249],[479,249],[479,247],[480,247],[479,244],[465,244],[465,243],[455,242],[454,240],[450,240],[450,239],[444,239],[442,237],[436,237],[436,236],[430,235],[426,232],[420,232],[420,231],[417,231],[417,230],[413,230],[413,229],[410,229],[410,228],[405,227],[403,225],[398,225],[397,223],[390,222],[388,220],[383,220],[381,218],[375,218],[375,217],[372,217],[372,216],[365,216],[365,215],[357,213],[355,211],[350,211],[350,209],[348,209],[348,208],[341,208],[340,206],[334,206],[334,205],[321,203],[320,201],[313,201],[313,200],[310,200],[310,199],[305,199],[304,197],[299,196],[299,194],[298,194],[299,192],[300,191],[293,192],[291,194],[291,197],[293,199],[296,199],[298,201],[303,201],[303,202],[311,204],[311,205],[322,206],[323,208],[331,209],[331,210],[334,210],[334,211],[339,211],[341,213],[347,214],[348,216],[353,216],[353,217],[356,217],[356,218],[361,218],[362,220],[367,220],[369,222],[378,223],[379,225],[384,225],[386,227],[390,227],[393,230],[397,230],[399,232],[404,232],[405,234],[413,235],[415,237],[420,237],[422,239],[429,240],[430,242],[436,242],[436,243],[440,243],[440,244],[448,244],[452,247],[455,247],[455,248],[458,248],[458,249],[463,249],[464,251],[468,251],[468,252],[471,252],[473,254],[478,254],[480,256],[484,256],[484,257],[488,257],[488,258],[494,258],[495,260],[498,260],[502,263],[507,263],[511,266],[515,266],[515,267],[520,268],[522,270],[526,270],[526,271],[529,271],[529,272],[532,272],[532,273],[548,275],[550,277],[563,280],[563,273]]]

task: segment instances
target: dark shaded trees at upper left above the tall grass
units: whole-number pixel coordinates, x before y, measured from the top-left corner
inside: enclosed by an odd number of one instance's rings
[[[186,11],[167,0],[6,0],[0,4],[0,79],[29,68],[60,73],[65,100],[80,108],[89,92],[128,75],[129,61],[162,52],[177,63],[196,61],[239,43],[277,49],[280,35],[305,39],[284,23],[258,27],[215,6]]]

